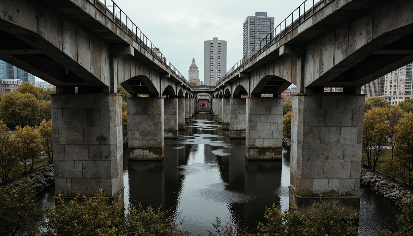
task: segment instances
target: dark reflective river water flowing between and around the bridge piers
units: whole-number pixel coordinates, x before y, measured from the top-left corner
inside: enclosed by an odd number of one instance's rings
[[[162,203],[181,212],[193,234],[208,235],[216,217],[252,230],[264,221],[264,207],[288,208],[290,150],[283,150],[282,160],[247,160],[245,140],[230,139],[209,113],[195,114],[179,138],[165,139],[162,161],[128,161],[123,153],[126,207],[135,200],[144,207]],[[40,193],[40,205],[53,195],[53,186]],[[365,187],[361,195],[358,235],[395,224],[398,207]]]

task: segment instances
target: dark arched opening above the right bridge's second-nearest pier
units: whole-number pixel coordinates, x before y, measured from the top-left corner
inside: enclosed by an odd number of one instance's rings
[[[291,82],[273,74],[264,76],[256,86],[251,88],[251,94],[278,94],[282,93]]]

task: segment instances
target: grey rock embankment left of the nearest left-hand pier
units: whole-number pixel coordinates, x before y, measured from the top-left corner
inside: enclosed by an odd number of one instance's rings
[[[26,179],[26,181],[31,181],[34,177],[36,180],[33,183],[33,189],[35,193],[40,193],[41,191],[45,190],[48,186],[55,183],[55,168],[53,167],[53,163],[46,163],[43,164],[36,169],[33,169],[31,172],[24,174],[21,178]],[[12,186],[14,191],[16,191],[19,186],[21,186],[22,182],[20,179],[14,179],[7,184],[8,186]]]

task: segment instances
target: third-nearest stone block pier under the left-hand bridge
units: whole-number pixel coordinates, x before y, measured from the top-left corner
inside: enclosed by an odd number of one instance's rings
[[[164,138],[178,138],[178,98],[164,98]]]

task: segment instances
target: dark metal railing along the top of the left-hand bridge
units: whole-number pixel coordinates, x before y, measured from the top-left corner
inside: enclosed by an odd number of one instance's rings
[[[125,12],[113,1],[113,0],[88,0],[91,2],[97,9],[103,12],[109,19],[111,19],[115,24],[121,27],[129,36],[138,42],[143,48],[145,48],[152,56],[157,58],[164,66],[168,67],[171,71],[175,72],[180,79],[183,80],[188,86],[187,79],[166,59],[166,57],[161,53],[159,48],[145,36],[142,31],[132,22]]]

